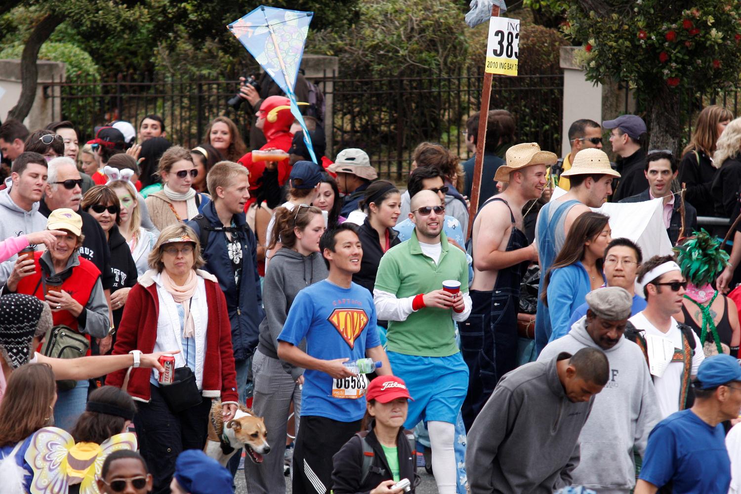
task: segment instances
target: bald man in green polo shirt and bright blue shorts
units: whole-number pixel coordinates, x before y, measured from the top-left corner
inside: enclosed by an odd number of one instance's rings
[[[468,390],[468,366],[455,339],[455,323],[471,313],[465,253],[442,231],[445,206],[431,190],[416,193],[409,218],[414,234],[381,258],[373,290],[379,319],[388,323],[388,359],[415,401],[404,427],[424,420],[440,494],[454,494],[456,418]],[[459,281],[460,293],[442,290]]]

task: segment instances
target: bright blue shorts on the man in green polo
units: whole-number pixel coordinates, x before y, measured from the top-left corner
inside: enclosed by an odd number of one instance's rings
[[[393,375],[407,384],[409,402],[405,429],[419,421],[456,423],[468,392],[468,366],[460,352],[449,357],[419,357],[387,352]]]

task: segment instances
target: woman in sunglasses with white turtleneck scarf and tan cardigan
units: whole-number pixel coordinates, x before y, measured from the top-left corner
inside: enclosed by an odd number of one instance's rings
[[[165,151],[159,158],[157,173],[162,176],[165,186],[144,201],[157,230],[195,218],[200,208],[210,200],[207,194],[197,193],[192,187],[198,169],[185,147],[173,146]]]

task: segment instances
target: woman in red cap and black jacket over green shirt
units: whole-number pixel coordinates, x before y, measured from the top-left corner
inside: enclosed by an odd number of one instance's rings
[[[332,458],[334,494],[413,493],[419,476],[414,435],[404,429],[412,399],[406,384],[393,375],[379,376],[371,381],[365,399],[363,425],[368,429],[354,435]],[[392,488],[405,479],[409,490]]]

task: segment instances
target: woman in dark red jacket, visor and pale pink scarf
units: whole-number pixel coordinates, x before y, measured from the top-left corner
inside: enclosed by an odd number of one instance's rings
[[[190,154],[188,155],[190,156]],[[168,492],[175,461],[205,446],[212,400],[224,423],[236,413],[238,394],[226,298],[203,266],[193,229],[165,227],[149,256],[150,270],[129,293],[113,355],[177,347],[171,384],[158,371],[137,368],[108,374],[106,384],[139,401],[134,425],[154,475],[155,493]]]

